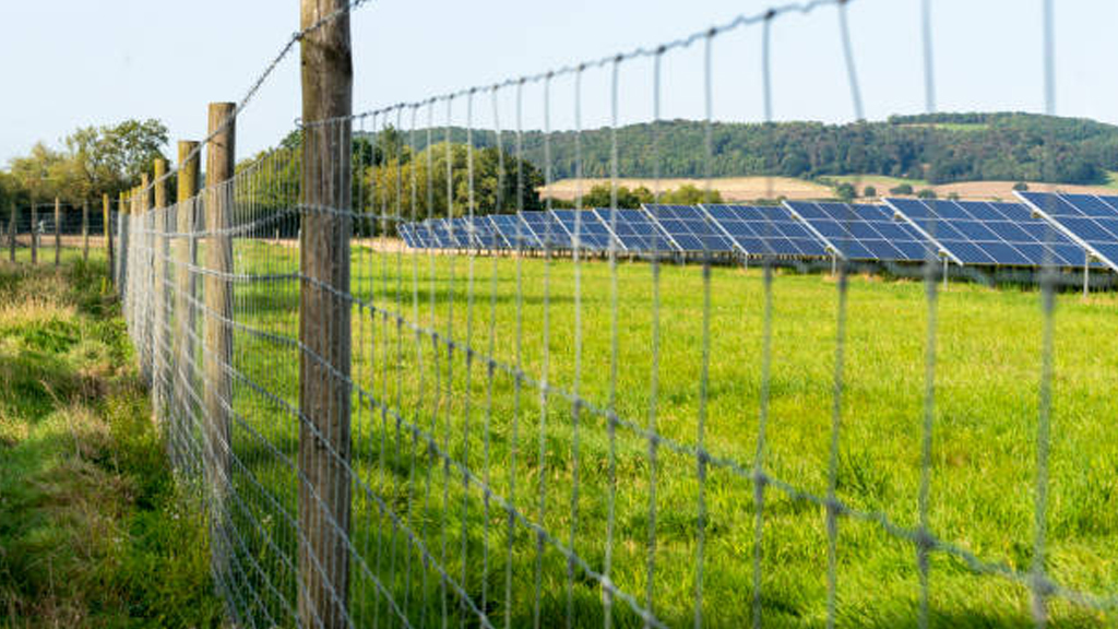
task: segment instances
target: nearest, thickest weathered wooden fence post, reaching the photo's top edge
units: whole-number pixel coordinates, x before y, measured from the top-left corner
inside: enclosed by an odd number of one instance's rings
[[[349,626],[350,153],[353,66],[347,0],[302,0],[299,617]],[[326,122],[331,121],[331,122]]]

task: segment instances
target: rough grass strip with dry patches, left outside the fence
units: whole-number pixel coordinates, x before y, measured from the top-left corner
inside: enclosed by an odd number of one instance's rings
[[[0,627],[217,626],[104,256],[77,257],[0,262]]]

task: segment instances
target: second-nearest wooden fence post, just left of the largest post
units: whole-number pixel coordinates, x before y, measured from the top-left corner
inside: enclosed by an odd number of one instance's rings
[[[211,489],[210,523],[226,524],[225,492],[229,479],[229,412],[233,404],[233,381],[228,367],[233,362],[233,241],[228,233],[229,204],[233,200],[236,109],[234,103],[211,103],[209,106],[209,144],[206,152],[206,351],[202,353],[206,379],[206,480]],[[222,533],[211,535],[214,570],[224,574],[226,552]]]

